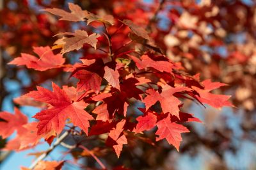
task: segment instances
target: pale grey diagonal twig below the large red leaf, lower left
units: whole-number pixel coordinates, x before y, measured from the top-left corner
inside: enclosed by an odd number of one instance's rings
[[[58,137],[55,143],[52,144],[52,146],[49,148],[49,150],[40,155],[40,157],[36,158],[36,160],[31,164],[31,166],[29,166],[29,169],[34,169],[38,162],[44,160],[44,158],[46,158],[51,153],[51,151],[54,150],[54,148],[56,148],[68,136],[69,133],[69,131],[66,131],[60,137]]]

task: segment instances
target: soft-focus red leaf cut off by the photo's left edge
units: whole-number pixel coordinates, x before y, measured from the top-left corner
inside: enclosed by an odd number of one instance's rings
[[[0,112],[0,135],[5,139],[15,132],[23,129],[23,125],[28,123],[28,118],[16,107],[14,108],[15,114],[10,112]]]

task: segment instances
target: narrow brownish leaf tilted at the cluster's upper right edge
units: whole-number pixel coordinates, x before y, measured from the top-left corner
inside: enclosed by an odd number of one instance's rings
[[[147,40],[150,40],[150,36],[148,35],[148,32],[143,27],[137,26],[131,20],[127,20],[127,19],[121,22],[126,26],[128,26],[134,34],[141,36],[142,38],[145,38]]]

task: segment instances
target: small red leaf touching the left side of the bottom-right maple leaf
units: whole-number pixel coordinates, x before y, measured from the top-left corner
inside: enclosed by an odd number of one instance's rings
[[[144,116],[136,118],[138,124],[136,125],[136,133],[143,132],[144,130],[150,130],[156,126],[157,117],[153,112],[147,112]]]

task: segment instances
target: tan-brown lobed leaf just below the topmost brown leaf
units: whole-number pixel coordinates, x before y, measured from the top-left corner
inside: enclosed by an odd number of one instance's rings
[[[61,54],[65,54],[66,52],[70,52],[72,50],[79,50],[83,47],[84,43],[88,43],[89,45],[92,45],[94,49],[96,49],[97,45],[97,38],[100,37],[100,35],[97,35],[96,33],[93,33],[92,35],[88,36],[88,33],[84,30],[76,30],[75,33],[63,33],[65,35],[72,35],[72,37],[65,37],[63,38],[63,47],[61,50]]]

